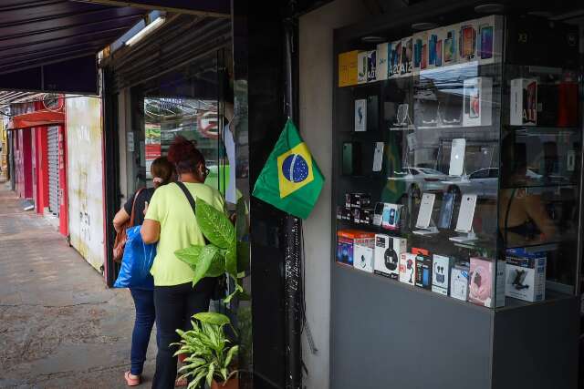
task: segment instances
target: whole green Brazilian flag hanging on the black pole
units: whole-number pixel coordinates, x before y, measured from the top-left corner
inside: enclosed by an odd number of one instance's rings
[[[317,203],[324,177],[294,123],[288,119],[262,169],[254,192],[278,210],[307,219]]]

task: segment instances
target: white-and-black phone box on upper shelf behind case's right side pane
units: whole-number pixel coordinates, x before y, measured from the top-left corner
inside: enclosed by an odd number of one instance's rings
[[[511,80],[509,123],[512,126],[537,125],[537,79]]]

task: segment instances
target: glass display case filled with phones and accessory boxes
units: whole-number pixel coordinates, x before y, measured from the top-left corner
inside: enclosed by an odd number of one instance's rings
[[[336,265],[493,309],[577,292],[578,29],[533,22],[550,59],[506,23],[337,43]]]

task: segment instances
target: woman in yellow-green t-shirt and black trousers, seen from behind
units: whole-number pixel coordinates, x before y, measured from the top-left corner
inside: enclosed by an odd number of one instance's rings
[[[204,184],[209,169],[192,141],[175,138],[168,159],[174,163],[180,182],[195,201],[202,199],[215,209],[224,210],[221,193]],[[158,242],[151,268],[159,332],[156,374],[152,383],[152,388],[156,389],[174,387],[177,358],[172,356],[176,347],[171,343],[180,340],[176,329],[189,329],[193,314],[209,309],[217,282],[214,278],[204,278],[193,287],[193,270],[174,255],[177,250],[205,244],[193,208],[180,185],[172,183],[154,192],[141,228],[145,243]]]

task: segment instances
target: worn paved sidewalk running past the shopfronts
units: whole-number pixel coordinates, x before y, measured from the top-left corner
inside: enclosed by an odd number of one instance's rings
[[[134,307],[0,184],[0,388],[124,388]],[[152,331],[145,382],[154,370]]]

